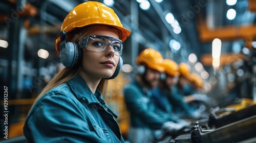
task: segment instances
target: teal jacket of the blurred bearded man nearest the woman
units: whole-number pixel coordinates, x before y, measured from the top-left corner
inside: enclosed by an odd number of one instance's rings
[[[143,89],[136,80],[125,86],[123,92],[132,128],[149,128],[154,131],[161,129],[163,123],[169,121],[155,111],[151,91]]]

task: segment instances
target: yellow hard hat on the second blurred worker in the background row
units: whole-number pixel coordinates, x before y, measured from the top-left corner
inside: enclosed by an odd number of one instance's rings
[[[173,77],[180,75],[179,65],[175,61],[170,60],[170,59],[164,59],[163,66],[164,66],[165,74],[167,74],[169,76],[173,76]]]

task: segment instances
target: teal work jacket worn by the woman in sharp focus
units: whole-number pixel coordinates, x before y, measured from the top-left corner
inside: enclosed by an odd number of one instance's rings
[[[77,75],[35,103],[23,131],[28,142],[124,142],[114,117],[100,91]]]

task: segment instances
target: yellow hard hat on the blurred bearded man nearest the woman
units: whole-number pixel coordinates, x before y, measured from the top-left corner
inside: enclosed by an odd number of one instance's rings
[[[163,56],[157,50],[148,48],[140,52],[136,59],[138,65],[146,65],[159,72],[164,71],[163,67]]]

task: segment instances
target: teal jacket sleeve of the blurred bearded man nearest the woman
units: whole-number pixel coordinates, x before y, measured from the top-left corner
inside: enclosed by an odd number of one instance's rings
[[[125,87],[123,91],[125,104],[130,114],[140,118],[151,129],[161,129],[166,118],[148,108],[147,103],[143,102],[140,91],[130,87]]]

